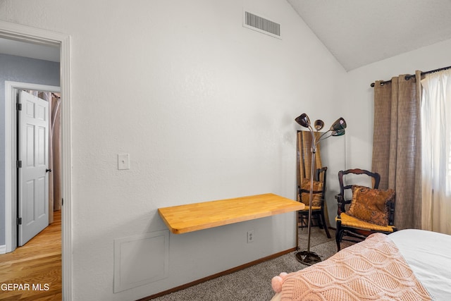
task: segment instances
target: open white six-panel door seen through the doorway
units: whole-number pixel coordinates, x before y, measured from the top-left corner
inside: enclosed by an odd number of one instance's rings
[[[49,103],[20,91],[18,245],[49,226]]]

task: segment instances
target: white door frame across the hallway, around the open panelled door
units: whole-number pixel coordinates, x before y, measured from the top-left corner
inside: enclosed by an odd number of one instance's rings
[[[37,90],[42,92],[61,92],[60,87],[31,84],[27,82],[5,81],[5,242],[6,253],[17,247],[17,140],[16,97],[18,90]],[[8,116],[9,112],[9,116]],[[9,163],[9,164],[8,164]],[[10,202],[7,202],[7,200]]]

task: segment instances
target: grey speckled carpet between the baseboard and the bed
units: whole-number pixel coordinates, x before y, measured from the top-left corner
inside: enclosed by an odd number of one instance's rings
[[[335,231],[330,231],[332,238],[327,238],[324,230],[311,228],[310,250],[319,254],[322,260],[337,252]],[[348,243],[350,245],[350,243]],[[345,242],[342,248],[346,247]],[[299,247],[307,250],[307,228],[299,229]],[[274,293],[271,279],[281,272],[290,273],[306,268],[297,262],[295,252],[275,259],[250,266],[235,273],[214,278],[194,285],[185,290],[154,298],[156,301],[265,301],[271,300]]]

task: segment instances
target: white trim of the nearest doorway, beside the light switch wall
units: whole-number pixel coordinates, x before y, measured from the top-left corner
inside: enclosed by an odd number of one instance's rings
[[[61,197],[64,204],[61,212],[61,259],[63,300],[72,300],[72,129],[70,118],[70,36],[35,27],[0,20],[0,37],[15,39],[20,42],[46,44],[60,48],[60,87],[61,87]],[[11,124],[11,102],[5,107],[5,142],[11,142],[14,126]],[[9,139],[9,140],[7,140]],[[5,143],[6,144],[6,143]],[[14,146],[16,147],[16,146]],[[6,174],[5,189],[11,189],[11,148],[5,149]],[[14,166],[15,167],[15,166]],[[16,171],[14,171],[16,172]],[[16,193],[16,192],[14,192]],[[8,202],[6,202],[8,204]],[[11,225],[11,223],[9,223]],[[8,226],[6,224],[6,226]]]

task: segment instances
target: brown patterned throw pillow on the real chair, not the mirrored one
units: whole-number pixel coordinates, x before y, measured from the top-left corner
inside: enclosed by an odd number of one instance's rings
[[[379,226],[388,226],[387,202],[395,199],[395,190],[352,186],[352,202],[347,214]]]

